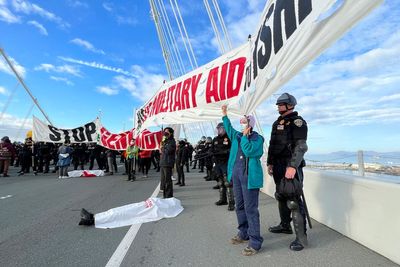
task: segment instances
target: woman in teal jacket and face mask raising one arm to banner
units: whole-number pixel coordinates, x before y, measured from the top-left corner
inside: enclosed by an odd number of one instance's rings
[[[258,196],[264,181],[260,161],[264,152],[264,137],[253,131],[253,116],[244,116],[240,120],[242,131],[239,132],[231,125],[226,105],[222,106],[222,114],[224,128],[232,142],[228,160],[228,182],[233,182],[239,230],[231,243],[248,242],[242,254],[251,256],[260,250],[263,242],[260,235]]]

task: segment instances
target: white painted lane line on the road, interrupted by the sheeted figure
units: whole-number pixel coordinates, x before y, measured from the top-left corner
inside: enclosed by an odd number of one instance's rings
[[[160,184],[157,185],[151,197],[156,197],[158,192],[160,191]],[[134,224],[129,228],[129,231],[126,233],[124,239],[122,239],[121,243],[114,251],[114,254],[108,260],[106,267],[119,267],[122,261],[125,258],[126,253],[128,252],[130,246],[133,243],[137,233],[139,232],[139,228],[142,224]]]

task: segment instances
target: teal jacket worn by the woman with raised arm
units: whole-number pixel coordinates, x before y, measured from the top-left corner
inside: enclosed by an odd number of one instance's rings
[[[225,131],[232,142],[228,160],[228,182],[231,182],[232,180],[233,167],[235,165],[236,154],[239,147],[238,139],[240,138],[240,147],[246,157],[246,162],[248,162],[247,188],[256,189],[263,187],[264,174],[261,167],[260,158],[264,153],[264,137],[262,137],[255,131],[253,131],[248,137],[243,136],[241,132],[233,129],[228,116],[222,117],[222,121],[224,123]]]

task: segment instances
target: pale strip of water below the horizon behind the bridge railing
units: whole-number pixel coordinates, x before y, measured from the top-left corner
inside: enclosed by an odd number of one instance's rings
[[[363,151],[365,163],[378,163],[386,166],[400,166],[400,152]],[[305,159],[322,163],[357,163],[358,152],[336,151],[327,154],[306,153]]]

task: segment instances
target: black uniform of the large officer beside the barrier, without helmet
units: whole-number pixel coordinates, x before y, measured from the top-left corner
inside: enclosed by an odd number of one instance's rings
[[[296,241],[300,238],[303,245],[306,245],[307,240],[305,210],[302,199],[300,196],[288,199],[283,192],[280,192],[279,185],[285,179],[287,167],[296,169],[295,179],[298,179],[302,184],[305,162],[303,154],[297,153],[297,151],[299,150],[298,146],[305,144],[306,140],[307,123],[297,112],[289,113],[284,117],[279,116],[272,125],[267,159],[268,165],[273,165],[272,171],[276,185],[275,197],[279,203],[281,218],[281,223],[270,227],[269,230],[273,233],[292,233],[290,222],[293,218]],[[294,205],[290,205],[289,203],[293,203]]]

